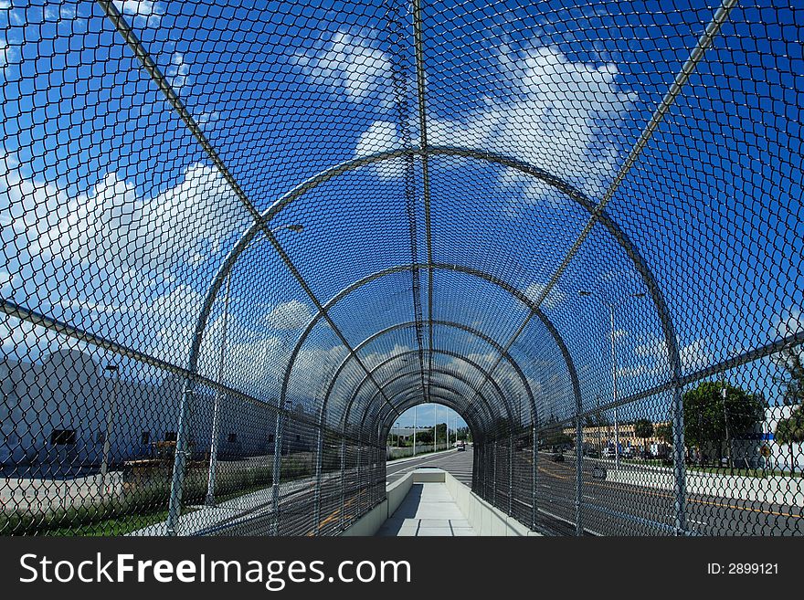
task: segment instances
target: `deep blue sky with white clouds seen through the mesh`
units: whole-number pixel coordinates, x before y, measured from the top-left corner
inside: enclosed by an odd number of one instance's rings
[[[117,4],[260,209],[334,164],[399,147],[406,136],[418,143],[404,3],[337,12],[338,3]],[[735,10],[608,205],[668,300],[686,371],[802,326],[800,16],[759,4]],[[513,156],[597,200],[713,13],[695,1],[672,11],[658,2],[425,3],[429,142]],[[0,0],[0,27],[3,296],[184,364],[207,282],[248,215],[96,3]],[[395,64],[407,77],[403,121]],[[277,225],[304,223],[300,236],[280,239],[319,298],[411,260],[403,167],[344,175],[278,217]],[[444,158],[430,169],[436,260],[482,268],[537,297],[587,213],[511,169]],[[225,374],[268,399],[314,311],[264,245],[249,257],[251,268],[233,279]],[[426,306],[427,278],[420,282]],[[524,319],[521,305],[479,280],[439,272],[436,282],[439,318],[500,343]],[[379,280],[333,317],[356,344],[413,318],[409,286],[409,275]],[[611,300],[644,285],[596,228],[543,304],[592,405],[611,395],[608,315],[577,299],[577,289]],[[220,313],[217,306],[202,360],[212,374]],[[650,301],[624,304],[617,318],[620,393],[661,383],[666,364]],[[16,322],[0,325],[4,352],[34,357],[59,343]],[[372,344],[369,362],[415,347],[409,333]],[[478,363],[494,361],[476,337],[441,328],[438,339]],[[537,395],[552,394],[545,402],[564,416],[572,405],[551,344],[534,324],[512,352]],[[264,357],[259,378],[254,356]],[[313,404],[299,390],[323,394],[343,358],[318,326],[294,370],[296,400]],[[765,361],[729,377],[773,401],[774,373]],[[666,405],[651,399],[634,410]]]

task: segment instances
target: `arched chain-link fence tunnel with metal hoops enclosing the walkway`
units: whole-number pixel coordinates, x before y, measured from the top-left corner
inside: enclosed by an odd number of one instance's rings
[[[4,534],[804,532],[802,10],[0,0]]]

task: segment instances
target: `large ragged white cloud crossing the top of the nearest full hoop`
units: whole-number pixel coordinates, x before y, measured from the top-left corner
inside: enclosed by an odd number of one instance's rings
[[[460,120],[429,119],[429,143],[512,156],[600,195],[619,158],[603,137],[636,100],[636,94],[619,89],[618,68],[573,62],[557,47],[538,45],[518,55],[501,48],[499,61],[513,90],[490,95],[480,108],[463,111]],[[366,132],[375,132],[370,136],[375,151],[397,143],[380,122]],[[388,146],[380,148],[384,140]],[[531,177],[503,174],[498,183],[518,188],[526,201],[555,202],[555,191]]]

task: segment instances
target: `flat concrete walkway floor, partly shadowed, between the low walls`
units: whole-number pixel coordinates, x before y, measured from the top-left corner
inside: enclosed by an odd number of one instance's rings
[[[414,483],[379,536],[455,537],[477,535],[444,483]]]

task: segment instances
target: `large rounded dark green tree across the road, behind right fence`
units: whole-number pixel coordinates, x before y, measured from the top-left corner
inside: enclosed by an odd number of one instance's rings
[[[723,390],[726,395],[723,397]],[[689,447],[706,451],[714,447],[718,459],[735,437],[754,433],[765,418],[761,396],[725,382],[704,382],[684,393],[684,440]],[[731,455],[731,452],[729,452]]]

